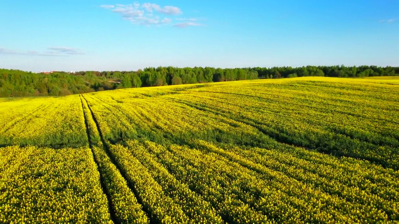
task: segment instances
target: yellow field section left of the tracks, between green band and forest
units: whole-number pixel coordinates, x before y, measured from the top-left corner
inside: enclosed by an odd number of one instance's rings
[[[0,131],[0,145],[62,148],[87,144],[79,96],[35,99],[19,106],[21,112],[15,111],[12,104],[5,106],[0,112],[5,123]]]

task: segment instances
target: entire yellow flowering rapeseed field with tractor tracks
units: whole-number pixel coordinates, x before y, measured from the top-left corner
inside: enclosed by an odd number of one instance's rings
[[[399,79],[0,98],[0,222],[399,220]]]

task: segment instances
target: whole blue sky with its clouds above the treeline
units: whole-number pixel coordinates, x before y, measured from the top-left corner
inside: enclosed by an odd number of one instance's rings
[[[398,0],[2,0],[0,68],[399,66]]]

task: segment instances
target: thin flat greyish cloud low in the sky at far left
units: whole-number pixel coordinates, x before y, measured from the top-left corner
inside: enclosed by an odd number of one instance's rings
[[[47,47],[49,51],[18,51],[6,48],[0,48],[2,55],[28,55],[28,56],[49,56],[49,57],[69,57],[70,55],[84,54],[79,49],[69,47]]]

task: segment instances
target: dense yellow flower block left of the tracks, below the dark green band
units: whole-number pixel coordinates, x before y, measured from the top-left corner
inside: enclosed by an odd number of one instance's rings
[[[1,223],[112,223],[90,149],[2,151],[22,156],[0,174]]]

